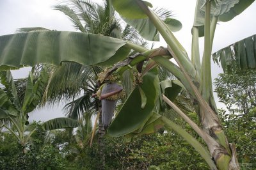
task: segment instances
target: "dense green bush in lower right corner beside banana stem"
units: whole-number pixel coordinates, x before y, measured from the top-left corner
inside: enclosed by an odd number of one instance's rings
[[[236,144],[238,162],[242,169],[248,165],[256,168],[256,108],[248,114],[238,115],[219,110],[219,116],[225,127],[230,143]],[[247,167],[248,168],[248,167]]]

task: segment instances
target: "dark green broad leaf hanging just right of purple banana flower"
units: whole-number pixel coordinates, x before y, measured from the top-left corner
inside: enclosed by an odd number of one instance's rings
[[[148,121],[159,95],[159,80],[156,68],[145,74],[140,88],[143,89],[147,97],[147,104],[144,109],[141,109],[141,95],[137,86],[127,98],[111,125],[109,125],[108,133],[110,135],[121,136],[129,134],[138,130],[141,125]]]

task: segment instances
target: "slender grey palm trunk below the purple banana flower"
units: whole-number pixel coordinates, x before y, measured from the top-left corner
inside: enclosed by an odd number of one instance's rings
[[[99,116],[99,138],[98,138],[99,159],[100,159],[99,169],[100,170],[105,169],[105,153],[104,153],[105,141],[104,141],[104,135],[106,134],[106,130],[103,127],[101,117],[102,117],[102,112],[100,112],[100,116]]]

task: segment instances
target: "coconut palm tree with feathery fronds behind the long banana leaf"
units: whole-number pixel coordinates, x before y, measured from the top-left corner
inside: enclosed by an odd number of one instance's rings
[[[122,38],[136,43],[143,43],[137,31],[131,26],[121,26],[121,20],[116,17],[115,11],[109,4],[96,4],[92,1],[66,1],[54,6],[55,10],[63,12],[72,20],[75,29],[84,33]],[[44,102],[54,104],[56,102],[72,100],[65,105],[64,110],[69,118],[83,118],[84,113],[97,113],[100,111],[100,100],[93,98],[97,93],[100,83],[97,82],[97,74],[102,72],[100,66],[84,66],[78,63],[63,63],[60,67],[52,68],[47,89],[44,93]],[[114,106],[115,107],[115,106]],[[87,116],[87,122],[91,123]],[[99,153],[102,167],[104,167],[102,140],[105,129],[102,126],[102,115],[99,115]],[[95,121],[96,123],[96,121]]]

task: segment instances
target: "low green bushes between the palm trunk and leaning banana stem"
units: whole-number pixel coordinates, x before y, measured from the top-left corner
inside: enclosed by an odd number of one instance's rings
[[[106,164],[113,169],[208,169],[200,155],[173,132],[143,135],[131,143],[120,138],[108,140]]]

